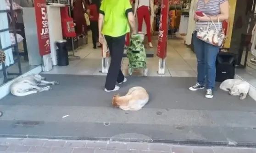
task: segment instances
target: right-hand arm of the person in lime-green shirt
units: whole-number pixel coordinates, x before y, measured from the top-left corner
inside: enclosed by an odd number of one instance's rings
[[[135,28],[135,17],[132,9],[132,5],[130,3],[130,0],[125,0],[125,16],[128,18],[128,22],[132,28],[132,33],[136,33]]]

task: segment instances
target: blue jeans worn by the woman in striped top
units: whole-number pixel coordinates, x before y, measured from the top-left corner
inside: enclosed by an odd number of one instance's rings
[[[219,47],[213,46],[207,42],[201,41],[194,33],[194,50],[197,58],[197,82],[205,84],[206,89],[214,89],[216,77],[216,58],[219,53]]]

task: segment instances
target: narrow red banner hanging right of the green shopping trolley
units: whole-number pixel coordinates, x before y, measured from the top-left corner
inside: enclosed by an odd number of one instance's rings
[[[168,32],[168,0],[162,0],[161,17],[159,21],[158,44],[156,55],[159,58],[166,58],[167,53],[167,32]]]

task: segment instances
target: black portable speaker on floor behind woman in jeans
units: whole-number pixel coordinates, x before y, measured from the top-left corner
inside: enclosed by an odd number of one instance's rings
[[[234,79],[236,58],[234,53],[220,52],[216,59],[216,82]]]

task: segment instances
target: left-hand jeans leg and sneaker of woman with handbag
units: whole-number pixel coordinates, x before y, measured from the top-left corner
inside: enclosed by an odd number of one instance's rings
[[[204,42],[196,37],[196,32],[194,33],[193,42],[197,59],[197,83],[189,87],[189,90],[195,91],[204,89],[206,72]]]

